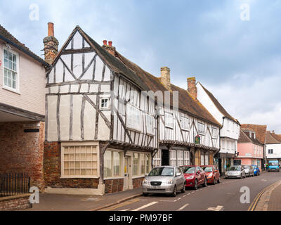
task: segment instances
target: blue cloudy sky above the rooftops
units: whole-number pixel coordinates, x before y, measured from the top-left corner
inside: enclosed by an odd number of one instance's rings
[[[155,76],[168,66],[171,82],[184,89],[195,76],[240,123],[268,124],[281,133],[281,1],[1,3],[1,25],[39,56],[48,22],[60,46],[79,25],[100,45],[112,40]]]

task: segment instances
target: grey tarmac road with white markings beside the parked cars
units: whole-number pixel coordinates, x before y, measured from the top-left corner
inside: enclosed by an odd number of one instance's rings
[[[157,194],[135,198],[101,211],[247,211],[263,188],[281,179],[281,172],[264,172],[246,179],[221,179],[221,184],[188,189],[176,197]],[[240,188],[248,187],[250,203],[240,203]]]

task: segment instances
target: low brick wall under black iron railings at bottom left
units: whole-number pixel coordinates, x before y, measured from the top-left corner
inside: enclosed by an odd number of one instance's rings
[[[29,194],[0,198],[0,211],[25,210],[31,207]]]

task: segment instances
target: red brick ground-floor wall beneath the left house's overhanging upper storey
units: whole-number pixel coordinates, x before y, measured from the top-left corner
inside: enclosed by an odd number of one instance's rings
[[[39,122],[39,132],[25,133],[31,127],[24,124],[37,122],[0,123],[0,173],[22,173],[30,175],[31,186],[44,189],[43,152],[44,122]],[[38,127],[37,127],[38,128]]]

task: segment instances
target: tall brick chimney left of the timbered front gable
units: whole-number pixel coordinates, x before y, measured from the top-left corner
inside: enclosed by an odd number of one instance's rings
[[[52,64],[58,54],[58,40],[54,37],[53,23],[48,23],[48,37],[43,40],[45,61]]]

